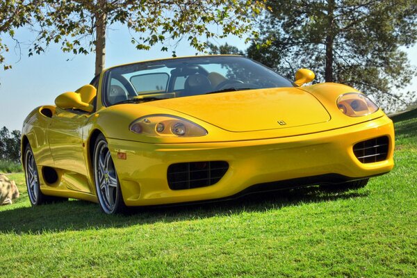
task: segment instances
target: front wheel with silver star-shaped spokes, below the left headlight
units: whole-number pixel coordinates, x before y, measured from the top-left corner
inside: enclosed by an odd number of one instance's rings
[[[95,141],[92,166],[101,211],[107,214],[124,212],[126,205],[123,201],[119,179],[106,138],[102,134]]]

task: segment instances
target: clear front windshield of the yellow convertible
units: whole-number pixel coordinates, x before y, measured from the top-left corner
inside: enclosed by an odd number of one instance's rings
[[[106,72],[104,102],[155,101],[216,92],[293,87],[268,67],[240,56],[203,56],[136,63]]]

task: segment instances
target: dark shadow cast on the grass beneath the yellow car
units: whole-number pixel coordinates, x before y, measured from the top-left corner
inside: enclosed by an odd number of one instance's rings
[[[333,202],[338,199],[366,197],[368,190],[327,193],[318,186],[256,193],[239,199],[177,206],[133,208],[124,215],[105,215],[98,204],[72,200],[37,207],[21,207],[0,212],[0,233],[42,234],[130,227],[155,222],[179,222],[243,212],[281,209],[300,204]]]

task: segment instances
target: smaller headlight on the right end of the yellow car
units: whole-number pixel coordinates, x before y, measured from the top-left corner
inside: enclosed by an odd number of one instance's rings
[[[350,117],[369,115],[379,109],[368,97],[357,92],[349,92],[338,97],[337,107]]]

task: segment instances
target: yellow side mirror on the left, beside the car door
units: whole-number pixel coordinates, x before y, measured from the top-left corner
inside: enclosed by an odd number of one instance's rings
[[[91,113],[94,106],[90,104],[97,95],[97,90],[92,85],[85,85],[76,92],[64,92],[55,99],[55,104],[62,109],[80,109]]]

